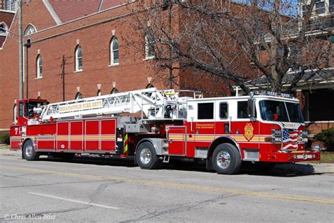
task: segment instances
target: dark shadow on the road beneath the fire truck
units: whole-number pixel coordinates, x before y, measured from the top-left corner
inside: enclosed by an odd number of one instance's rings
[[[71,161],[63,161],[61,159],[40,158],[41,161],[48,162],[68,162],[78,164],[94,164],[94,165],[108,165],[115,167],[137,167],[133,163],[133,159],[121,158],[101,158],[101,157],[75,157]],[[171,162],[170,164],[161,164],[160,169],[170,171],[201,171],[207,173],[215,173],[205,168],[205,162]],[[321,175],[323,173],[316,173],[312,164],[276,164],[276,167],[270,171],[261,171],[256,169],[251,164],[242,165],[237,175],[256,175],[256,176],[278,176],[278,177],[295,177],[295,176],[309,176]]]

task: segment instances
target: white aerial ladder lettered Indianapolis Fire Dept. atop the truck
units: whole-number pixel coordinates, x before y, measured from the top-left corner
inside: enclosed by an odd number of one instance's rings
[[[142,119],[185,119],[187,98],[174,90],[148,88],[112,95],[58,102],[42,107],[41,119],[82,118],[82,116],[139,113]]]

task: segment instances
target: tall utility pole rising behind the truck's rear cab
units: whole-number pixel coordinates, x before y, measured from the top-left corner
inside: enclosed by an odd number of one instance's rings
[[[23,33],[22,33],[22,0],[18,0],[18,93],[20,100],[23,99]]]

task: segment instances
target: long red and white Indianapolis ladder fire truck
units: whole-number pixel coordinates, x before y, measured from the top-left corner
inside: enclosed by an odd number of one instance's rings
[[[194,159],[218,174],[235,174],[242,162],[272,167],[320,159],[319,151],[305,149],[299,101],[289,95],[180,94],[149,88],[51,104],[19,100],[11,149],[22,150],[27,160],[84,153],[129,157],[142,169]]]

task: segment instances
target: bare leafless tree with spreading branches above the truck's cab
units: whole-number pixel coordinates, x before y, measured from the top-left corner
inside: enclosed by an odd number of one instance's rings
[[[311,0],[309,8],[314,4]],[[249,92],[255,85],[290,92],[303,78],[333,66],[328,41],[333,28],[323,20],[312,23],[312,10],[301,17],[292,1],[140,1],[132,10],[147,40],[146,53],[154,55],[156,68],[168,71],[161,73],[170,88],[174,78],[191,70],[197,78],[223,80],[230,90],[238,85]],[[251,81],[259,77],[267,84]]]

